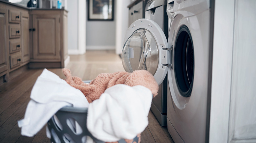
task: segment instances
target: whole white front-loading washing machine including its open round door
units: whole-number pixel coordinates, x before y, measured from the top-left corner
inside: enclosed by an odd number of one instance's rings
[[[122,51],[126,71],[145,69],[160,85],[167,76],[167,128],[176,143],[208,141],[210,0],[168,0],[168,41],[149,19],[127,30]]]

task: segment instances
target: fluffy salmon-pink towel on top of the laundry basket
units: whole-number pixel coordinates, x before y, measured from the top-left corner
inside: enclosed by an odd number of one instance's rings
[[[69,69],[64,68],[65,81],[82,91],[91,103],[98,99],[102,93],[108,88],[117,84],[125,84],[128,86],[141,85],[151,90],[153,97],[157,95],[158,84],[154,79],[154,76],[146,70],[133,71],[132,73],[125,71],[118,71],[114,73],[101,73],[90,84],[85,84],[81,78],[72,76]]]

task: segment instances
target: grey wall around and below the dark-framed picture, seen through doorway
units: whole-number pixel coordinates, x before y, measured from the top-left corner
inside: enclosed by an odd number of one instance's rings
[[[91,47],[102,47],[100,49],[115,47],[116,9],[116,0],[114,0],[114,21],[88,21],[86,14],[86,50],[93,50]]]

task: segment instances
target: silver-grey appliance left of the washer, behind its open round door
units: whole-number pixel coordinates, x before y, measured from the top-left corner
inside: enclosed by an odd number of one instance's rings
[[[168,17],[166,13],[167,0],[149,0],[145,6],[145,19],[156,22],[168,38]],[[150,110],[161,126],[166,126],[167,114],[167,75],[159,85],[158,96],[153,98]]]

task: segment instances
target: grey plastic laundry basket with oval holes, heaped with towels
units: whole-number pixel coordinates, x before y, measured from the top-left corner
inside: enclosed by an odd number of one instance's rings
[[[86,143],[93,139],[96,143],[104,143],[93,137],[86,126],[88,108],[63,107],[47,123],[53,143]],[[88,137],[90,136],[90,137]],[[132,143],[138,143],[136,136]],[[118,143],[126,143],[124,139]]]

